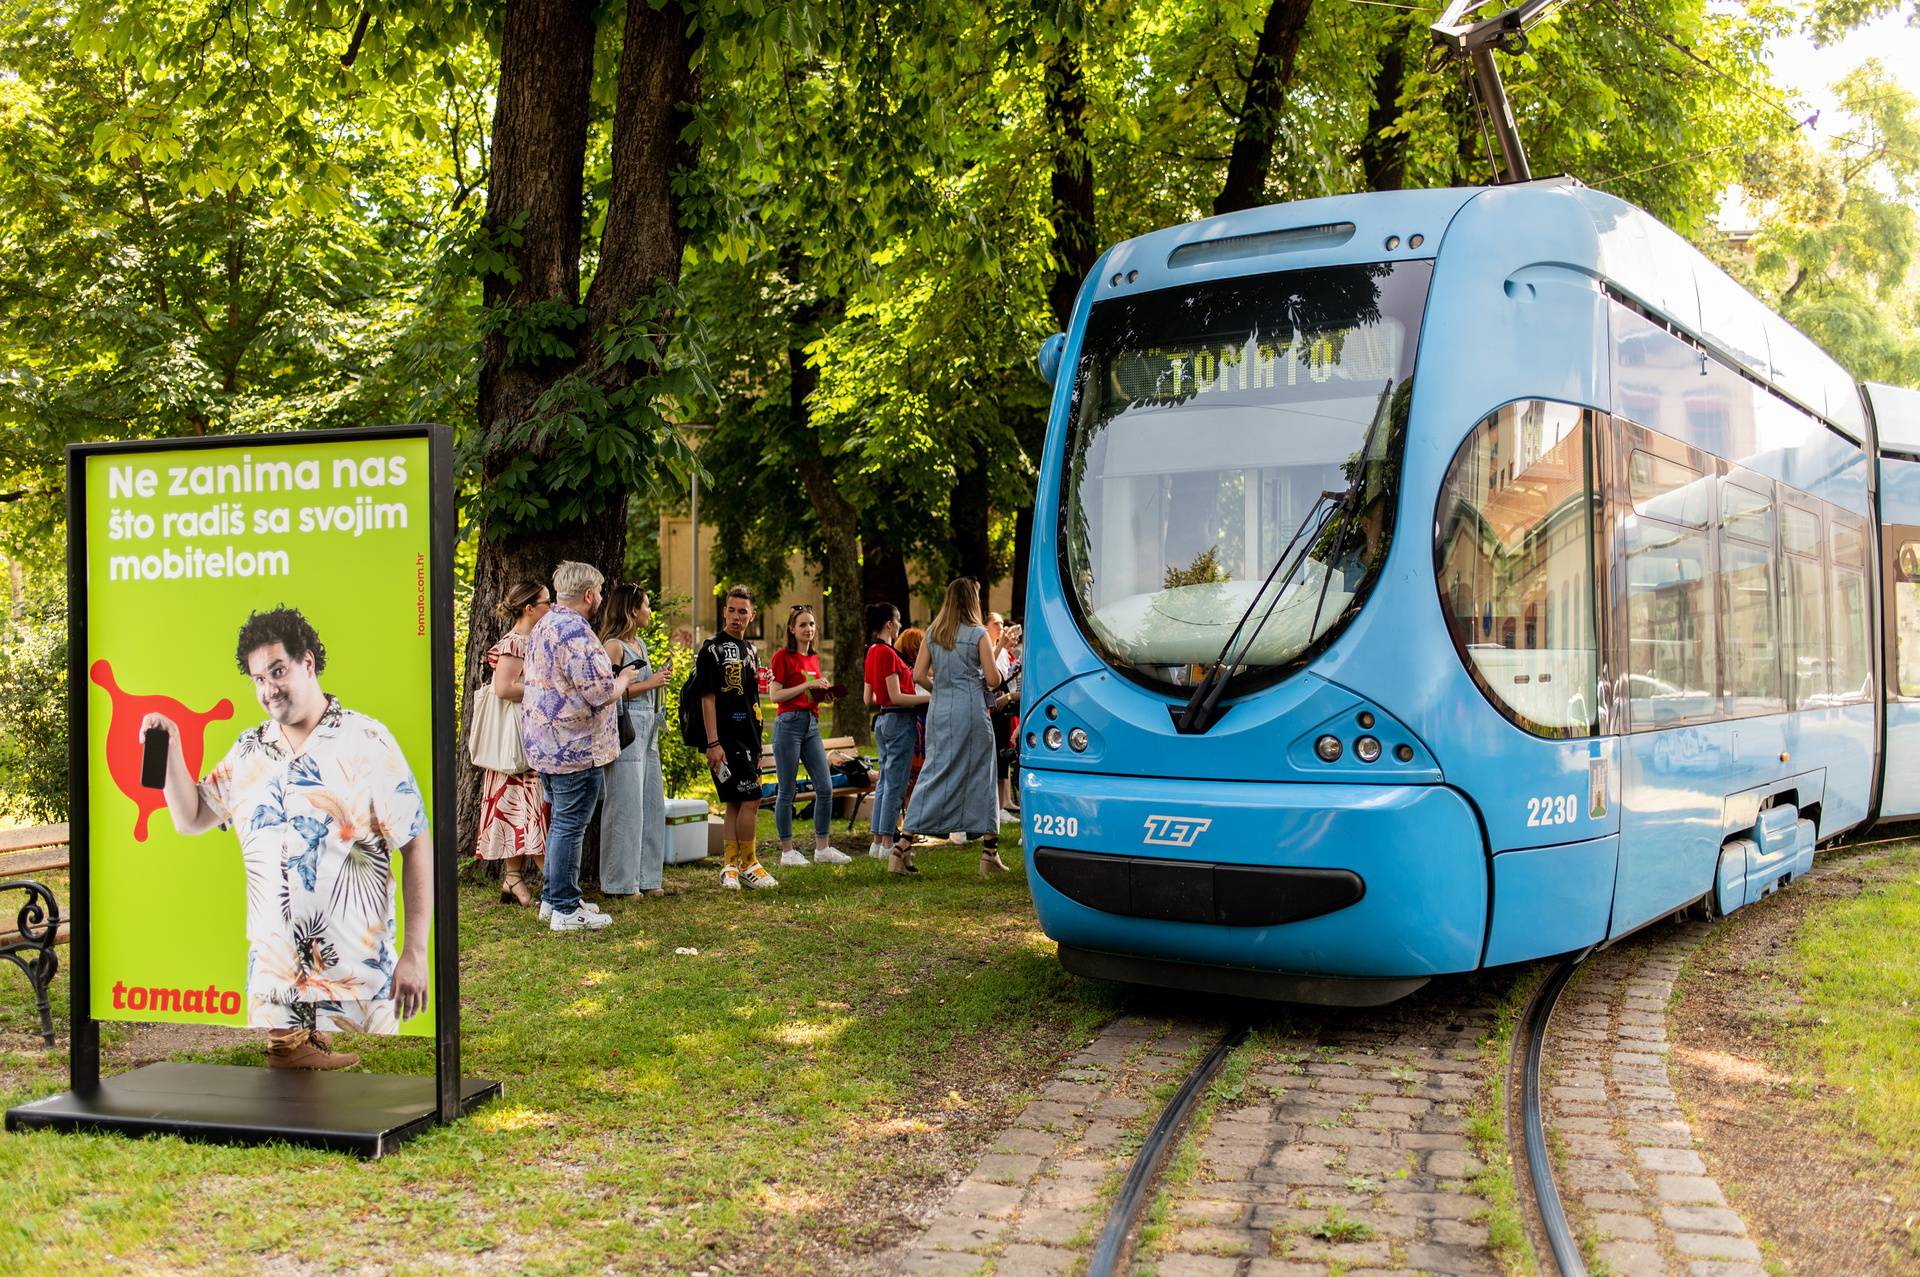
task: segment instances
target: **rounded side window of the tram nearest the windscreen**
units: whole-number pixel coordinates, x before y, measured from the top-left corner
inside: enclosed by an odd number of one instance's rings
[[[1482,421],[1440,488],[1448,630],[1494,705],[1536,735],[1592,735],[1592,415],[1538,399]]]

